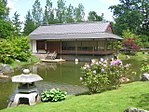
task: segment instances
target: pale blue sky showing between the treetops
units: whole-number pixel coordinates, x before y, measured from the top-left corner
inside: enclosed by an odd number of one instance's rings
[[[44,9],[46,0],[39,0],[41,7]],[[57,7],[57,0],[51,0],[53,3],[53,8]],[[72,4],[72,6],[77,7],[79,3],[84,6],[85,17],[89,11],[96,11],[98,15],[104,13],[104,18],[109,21],[113,21],[112,12],[109,10],[109,6],[117,5],[119,0],[65,0],[66,6]],[[10,8],[10,17],[17,11],[20,15],[20,20],[24,21],[24,18],[29,9],[32,9],[32,5],[35,0],[8,0],[8,7]]]

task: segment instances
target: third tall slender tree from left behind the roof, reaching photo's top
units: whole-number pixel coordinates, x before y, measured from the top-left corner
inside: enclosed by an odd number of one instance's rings
[[[59,23],[66,22],[66,6],[64,0],[57,1],[56,19]]]

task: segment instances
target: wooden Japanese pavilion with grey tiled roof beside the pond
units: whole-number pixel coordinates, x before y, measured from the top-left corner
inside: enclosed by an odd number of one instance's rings
[[[118,39],[107,22],[46,25],[30,34],[34,53],[56,51],[63,58],[113,54],[113,42]]]

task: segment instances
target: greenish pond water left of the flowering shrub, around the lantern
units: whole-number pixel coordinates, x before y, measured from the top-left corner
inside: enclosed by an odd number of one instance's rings
[[[80,67],[84,63],[75,64],[74,62],[65,63],[39,63],[16,70],[13,75],[20,75],[24,68],[28,68],[32,73],[38,74],[43,81],[36,83],[39,92],[51,88],[60,88],[68,94],[78,94],[87,91],[80,83]],[[12,83],[11,79],[0,82],[0,109],[6,108],[9,98],[16,90],[17,84]]]

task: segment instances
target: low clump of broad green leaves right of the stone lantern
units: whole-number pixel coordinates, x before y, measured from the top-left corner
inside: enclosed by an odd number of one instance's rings
[[[41,93],[42,102],[57,102],[64,100],[66,98],[67,92],[62,91],[58,88],[53,88],[51,90],[45,90]]]

